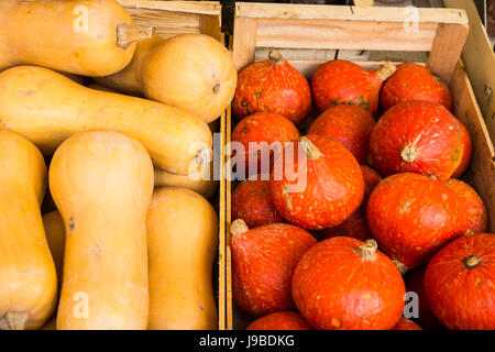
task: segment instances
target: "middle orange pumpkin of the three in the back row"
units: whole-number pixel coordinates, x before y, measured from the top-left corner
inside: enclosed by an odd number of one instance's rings
[[[331,106],[353,105],[375,116],[381,86],[375,72],[344,59],[321,65],[311,78],[312,99],[320,112]]]

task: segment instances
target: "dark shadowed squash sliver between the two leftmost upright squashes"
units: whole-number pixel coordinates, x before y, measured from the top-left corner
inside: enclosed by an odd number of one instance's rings
[[[52,253],[58,280],[62,279],[62,268],[64,266],[65,228],[64,220],[58,210],[43,215],[43,226],[45,228],[46,241]]]

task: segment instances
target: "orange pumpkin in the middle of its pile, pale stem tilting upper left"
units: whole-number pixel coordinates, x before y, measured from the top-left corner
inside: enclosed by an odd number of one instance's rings
[[[364,195],[363,175],[342,144],[308,134],[294,147],[294,167],[283,165],[286,158],[275,161],[270,188],[275,208],[289,222],[322,230],[338,226],[358,210]],[[296,177],[289,180],[292,176]]]

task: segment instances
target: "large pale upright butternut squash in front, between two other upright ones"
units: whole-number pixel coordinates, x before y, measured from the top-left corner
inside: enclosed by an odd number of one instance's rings
[[[50,186],[66,233],[57,329],[146,329],[144,146],[113,131],[75,134],[53,156]]]

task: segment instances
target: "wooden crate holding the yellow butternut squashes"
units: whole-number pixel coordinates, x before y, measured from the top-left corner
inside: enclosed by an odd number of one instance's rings
[[[118,0],[131,14],[135,24],[153,25],[155,34],[169,37],[182,33],[208,34],[224,44],[221,33],[221,6],[219,1],[142,1]],[[227,112],[220,117],[218,131],[223,150]],[[226,177],[224,158],[220,154],[221,180],[216,208],[219,215],[218,309],[219,329],[226,328]],[[215,280],[217,278],[213,278]]]

